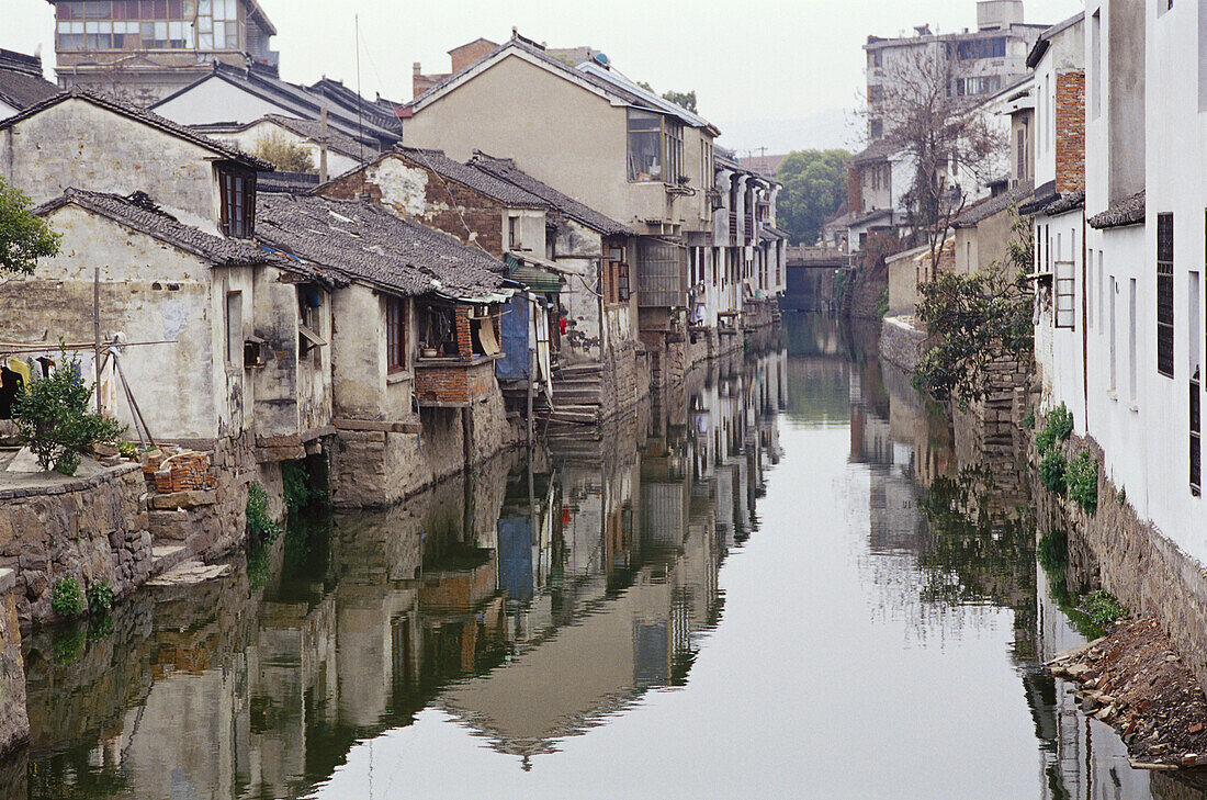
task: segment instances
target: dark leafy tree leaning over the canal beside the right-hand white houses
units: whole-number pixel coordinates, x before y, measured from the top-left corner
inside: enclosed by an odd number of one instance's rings
[[[944,270],[919,287],[917,316],[933,341],[914,369],[919,390],[967,403],[984,396],[981,369],[995,357],[1033,352],[1034,296],[1026,279],[1033,247],[1030,220],[1014,212],[1013,230],[1004,267],[973,275]]]

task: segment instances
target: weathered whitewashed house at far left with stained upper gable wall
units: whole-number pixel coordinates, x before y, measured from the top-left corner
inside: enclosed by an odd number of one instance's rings
[[[101,396],[129,436],[212,454],[223,501],[204,514],[226,545],[241,531],[246,473],[272,491],[279,462],[332,433],[328,282],[252,241],[269,169],[78,88],[0,121],[0,174],[64,235],[59,256],[0,288],[5,308],[24,309],[5,316],[2,338],[54,351],[60,337],[94,344],[98,325],[124,373],[103,360]]]

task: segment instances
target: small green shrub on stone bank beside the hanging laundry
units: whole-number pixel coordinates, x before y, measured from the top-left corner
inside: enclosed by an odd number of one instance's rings
[[[80,360],[62,351],[49,378],[30,381],[17,396],[17,426],[42,469],[74,475],[80,454],[95,442],[112,442],[126,430],[88,410],[93,386],[80,379]]]

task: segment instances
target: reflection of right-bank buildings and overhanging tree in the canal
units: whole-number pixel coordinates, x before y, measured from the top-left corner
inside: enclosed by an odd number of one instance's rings
[[[864,568],[882,592],[880,613],[911,618],[922,638],[960,636],[999,609],[1013,613],[1010,659],[1034,720],[1042,798],[1207,798],[1194,778],[1132,770],[1118,734],[1080,713],[1072,687],[1040,668],[1086,640],[1037,567],[1018,463],[976,459],[978,433],[952,425],[906,374],[879,361],[874,327],[839,331],[803,316],[788,323],[788,417],[849,415],[849,479],[865,484],[852,514],[868,530]],[[797,391],[801,383],[807,392]]]

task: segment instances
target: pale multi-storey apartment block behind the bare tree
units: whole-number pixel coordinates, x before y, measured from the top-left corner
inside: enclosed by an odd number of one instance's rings
[[[1046,24],[1024,22],[1022,0],[978,0],[976,30],[935,34],[929,25],[915,28],[914,36],[868,36],[868,140],[885,135],[885,98],[893,81],[920,59],[947,66],[958,97],[990,97],[1027,75],[1027,53]]]

